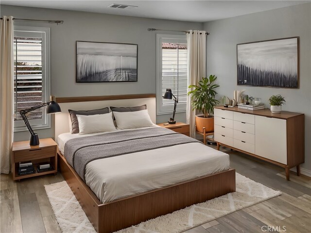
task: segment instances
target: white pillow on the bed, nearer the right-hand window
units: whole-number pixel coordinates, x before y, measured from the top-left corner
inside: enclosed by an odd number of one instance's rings
[[[154,126],[147,109],[135,112],[113,112],[113,115],[120,130]]]

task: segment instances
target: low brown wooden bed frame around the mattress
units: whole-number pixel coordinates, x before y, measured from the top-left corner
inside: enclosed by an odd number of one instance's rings
[[[139,98],[137,96],[136,98]],[[131,99],[130,96],[128,99]],[[236,190],[235,169],[228,169],[128,198],[101,203],[67,163],[59,149],[57,153],[59,167],[64,179],[98,233],[115,232]]]

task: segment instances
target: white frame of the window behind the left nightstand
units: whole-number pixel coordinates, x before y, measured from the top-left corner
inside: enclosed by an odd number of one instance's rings
[[[22,36],[31,37],[32,33],[41,33],[42,36],[42,102],[49,101],[51,95],[51,65],[50,65],[50,28],[14,26],[14,36],[23,33]],[[27,35],[27,33],[29,35]],[[12,77],[13,79],[15,77]],[[41,119],[29,119],[29,123],[34,130],[51,128],[51,116],[42,108]],[[14,132],[28,131],[23,120],[14,121]]]

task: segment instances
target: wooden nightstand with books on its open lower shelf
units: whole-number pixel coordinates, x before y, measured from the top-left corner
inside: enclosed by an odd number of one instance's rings
[[[18,175],[19,162],[31,161],[35,173]],[[49,162],[53,170],[38,172],[38,163]],[[30,146],[29,141],[13,142],[12,144],[12,173],[13,180],[20,180],[57,172],[57,144],[52,138],[40,139],[40,145]]]

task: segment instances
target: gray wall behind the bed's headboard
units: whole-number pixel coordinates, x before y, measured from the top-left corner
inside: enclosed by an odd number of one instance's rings
[[[56,97],[156,93],[156,32],[148,32],[147,28],[181,31],[203,28],[203,23],[9,5],[1,5],[1,16],[65,21],[60,25],[14,22],[15,25],[51,27],[51,94]],[[138,82],[75,83],[76,40],[138,44]],[[159,115],[156,121],[165,122],[170,116]],[[185,121],[186,114],[176,114],[176,120]],[[51,129],[36,130],[40,138],[53,137],[53,132],[53,125]],[[14,141],[29,140],[29,136],[28,131],[17,132]]]

